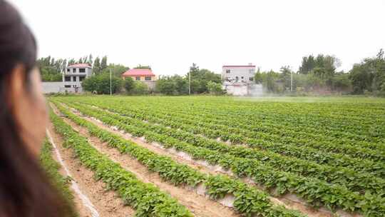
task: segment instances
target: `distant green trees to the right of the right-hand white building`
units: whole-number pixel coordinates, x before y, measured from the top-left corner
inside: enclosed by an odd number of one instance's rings
[[[340,65],[335,56],[309,55],[302,58],[297,72],[289,66],[282,66],[279,71],[261,72],[258,69],[255,81],[263,84],[268,93],[289,93],[293,73],[293,91],[296,93],[385,95],[385,57],[382,49],[376,57],[354,64],[348,72],[337,71]]]

